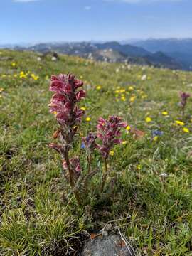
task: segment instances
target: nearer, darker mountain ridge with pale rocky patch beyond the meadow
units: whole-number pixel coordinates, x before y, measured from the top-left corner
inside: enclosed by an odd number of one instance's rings
[[[41,53],[55,51],[68,55],[79,55],[83,58],[90,58],[100,61],[127,62],[139,65],[154,65],[171,69],[182,69],[182,65],[174,58],[164,53],[151,53],[142,47],[112,41],[107,43],[40,43],[31,46],[28,50],[35,50]]]

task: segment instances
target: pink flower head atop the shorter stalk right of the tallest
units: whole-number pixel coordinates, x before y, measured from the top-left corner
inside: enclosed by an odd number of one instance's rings
[[[127,127],[120,117],[112,116],[108,120],[100,117],[97,124],[97,138],[102,141],[101,145],[97,145],[102,157],[107,159],[110,149],[114,144],[121,142],[118,137],[121,135],[120,128]]]

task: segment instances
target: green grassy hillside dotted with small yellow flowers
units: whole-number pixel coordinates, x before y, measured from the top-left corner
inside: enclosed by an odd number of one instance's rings
[[[179,91],[192,94],[192,73],[65,55],[37,58],[0,53],[0,255],[78,255],[87,232],[108,221],[136,255],[192,255],[192,99],[185,117],[178,107]],[[84,80],[87,91],[79,137],[111,114],[131,127],[110,156],[115,192],[109,181],[105,195],[97,194],[95,176],[90,205],[82,210],[63,193],[60,158],[48,148],[57,127],[48,111],[50,75],[68,72]],[[95,161],[102,169],[99,154]]]

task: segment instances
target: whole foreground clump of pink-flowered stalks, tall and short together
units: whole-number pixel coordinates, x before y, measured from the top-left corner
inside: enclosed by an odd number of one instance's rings
[[[49,146],[55,149],[62,158],[63,172],[65,178],[69,181],[75,198],[79,206],[82,206],[82,198],[80,197],[80,190],[78,184],[85,183],[97,171],[91,171],[92,153],[95,149],[100,151],[102,159],[105,163],[105,172],[102,174],[101,191],[105,186],[107,179],[107,159],[110,150],[114,144],[121,143],[119,139],[121,132],[120,129],[127,127],[127,124],[122,122],[120,117],[112,116],[109,119],[100,117],[97,124],[97,134],[88,133],[87,137],[82,138],[83,148],[87,149],[87,163],[88,168],[86,176],[83,177],[82,168],[80,166],[80,159],[75,156],[70,159],[70,150],[73,148],[75,134],[77,134],[78,125],[81,122],[84,110],[78,107],[78,102],[85,97],[85,91],[79,90],[83,82],[76,79],[74,75],[52,75],[50,80],[50,91],[55,92],[50,100],[50,112],[55,114],[60,128],[54,132],[53,138],[59,139],[59,144],[50,143]],[[99,142],[97,143],[96,140]],[[82,176],[82,177],[81,177]],[[81,178],[81,180],[80,180]],[[84,189],[84,188],[82,188]],[[87,191],[87,188],[84,189]]]

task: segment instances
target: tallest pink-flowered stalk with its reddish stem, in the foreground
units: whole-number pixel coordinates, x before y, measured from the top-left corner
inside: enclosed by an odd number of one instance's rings
[[[83,82],[75,79],[74,75],[52,75],[50,80],[50,91],[55,92],[50,100],[50,112],[55,114],[55,118],[60,124],[54,134],[54,139],[59,138],[60,144],[51,143],[49,146],[58,151],[63,159],[63,169],[68,169],[70,186],[75,187],[74,176],[80,173],[80,162],[78,159],[69,159],[69,151],[77,132],[77,125],[81,121],[84,110],[80,110],[77,102],[85,97],[84,90],[78,90]],[[75,197],[80,205],[80,195],[75,191]]]

